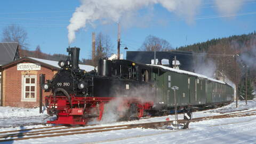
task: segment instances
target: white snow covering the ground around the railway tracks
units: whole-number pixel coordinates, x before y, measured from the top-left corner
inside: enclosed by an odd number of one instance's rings
[[[248,104],[245,105],[244,101],[238,101],[238,108],[236,108],[236,103],[233,102],[228,106],[217,108],[214,110],[212,109],[197,111],[193,113],[193,117],[220,115],[223,113],[233,113],[236,111],[247,111],[253,109],[256,109],[256,102],[248,101]],[[8,113],[3,112],[3,110],[7,110]],[[0,107],[0,126],[6,126],[3,123],[4,118],[14,118],[16,119],[16,124],[20,123],[20,121],[24,121],[24,118],[30,118],[28,122],[33,122],[35,117],[43,121],[42,118],[46,117],[45,113],[37,114],[37,110]],[[3,115],[4,113],[6,116]],[[174,119],[173,115],[169,115],[163,117],[140,119],[138,121],[99,124],[97,126],[165,121],[167,117],[170,117],[170,119]],[[179,119],[183,119],[182,114],[179,115]],[[13,124],[15,124],[14,121]],[[255,124],[256,116],[247,116],[213,119],[208,121],[190,123],[189,129],[187,130],[157,130],[135,128],[129,130],[76,134],[61,137],[28,139],[4,143],[256,143]],[[29,127],[35,126],[25,126],[22,127],[22,129]],[[36,125],[36,127],[41,127],[41,125]],[[6,129],[2,128],[0,129],[0,131],[14,129],[21,129],[21,127],[12,127]]]

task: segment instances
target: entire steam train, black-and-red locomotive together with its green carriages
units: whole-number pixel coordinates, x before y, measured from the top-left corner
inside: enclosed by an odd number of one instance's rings
[[[47,123],[100,121],[111,102],[119,118],[134,119],[170,114],[175,104],[187,110],[234,100],[234,89],[227,83],[162,65],[102,58],[98,70],[86,72],[78,66],[79,50],[69,47],[68,59],[59,61],[58,73],[43,84],[45,92],[52,93],[45,98],[47,113],[57,115]],[[175,94],[174,86],[179,88]]]

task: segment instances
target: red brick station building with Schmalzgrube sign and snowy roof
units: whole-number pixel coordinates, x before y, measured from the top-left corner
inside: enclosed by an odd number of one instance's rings
[[[93,66],[79,65],[81,69],[91,71]],[[45,74],[46,79],[52,79],[60,69],[58,61],[24,57],[0,69],[2,72],[1,106],[38,107],[39,106],[39,75]],[[43,92],[43,103],[46,95]]]

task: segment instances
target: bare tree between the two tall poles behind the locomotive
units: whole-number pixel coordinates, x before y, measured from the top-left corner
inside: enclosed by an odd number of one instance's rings
[[[103,35],[102,33],[97,34],[95,38],[95,59],[94,65],[102,57],[110,57],[112,52],[113,44],[111,44],[111,39],[108,35]]]

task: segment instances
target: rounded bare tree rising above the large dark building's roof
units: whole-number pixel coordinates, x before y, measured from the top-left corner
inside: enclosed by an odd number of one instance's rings
[[[156,36],[149,35],[145,38],[139,51],[170,51],[172,46],[163,38],[158,38]]]

